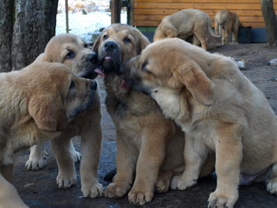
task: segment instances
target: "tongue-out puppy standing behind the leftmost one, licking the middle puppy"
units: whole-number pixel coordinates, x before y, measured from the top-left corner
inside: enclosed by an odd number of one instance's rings
[[[88,49],[87,42],[71,34],[53,37],[47,44],[44,53],[39,55],[37,62],[60,62],[65,64],[75,76],[94,79],[98,76],[93,70],[98,58],[96,53]],[[69,123],[69,128],[59,137],[52,139],[50,144],[57,159],[59,173],[57,185],[69,188],[76,184],[74,162],[80,153],[76,152],[71,138],[81,137],[82,162],[80,176],[84,197],[102,196],[102,184],[98,182],[98,164],[102,142],[102,110],[100,104],[100,89],[96,90],[93,104]],[[42,168],[45,165],[44,145],[34,146],[30,150],[30,158],[26,162],[28,169]]]

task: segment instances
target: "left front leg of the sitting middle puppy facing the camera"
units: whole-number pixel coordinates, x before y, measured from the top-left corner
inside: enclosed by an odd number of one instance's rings
[[[116,175],[104,192],[108,198],[122,197],[131,189],[139,155],[139,150],[129,143],[132,139],[124,137],[124,132],[122,135],[120,132],[123,130],[116,130]]]

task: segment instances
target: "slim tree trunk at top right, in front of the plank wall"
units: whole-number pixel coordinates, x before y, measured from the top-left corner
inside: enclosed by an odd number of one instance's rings
[[[262,16],[265,19],[267,30],[267,44],[277,46],[277,21],[274,12],[273,0],[261,0]]]

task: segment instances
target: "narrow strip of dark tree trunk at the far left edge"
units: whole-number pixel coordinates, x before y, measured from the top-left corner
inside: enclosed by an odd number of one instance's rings
[[[0,72],[12,70],[12,8],[10,0],[0,1]]]

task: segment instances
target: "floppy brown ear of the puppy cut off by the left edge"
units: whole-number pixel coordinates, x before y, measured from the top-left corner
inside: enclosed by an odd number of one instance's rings
[[[56,132],[66,130],[68,122],[61,96],[34,96],[28,103],[28,112],[40,130]]]

